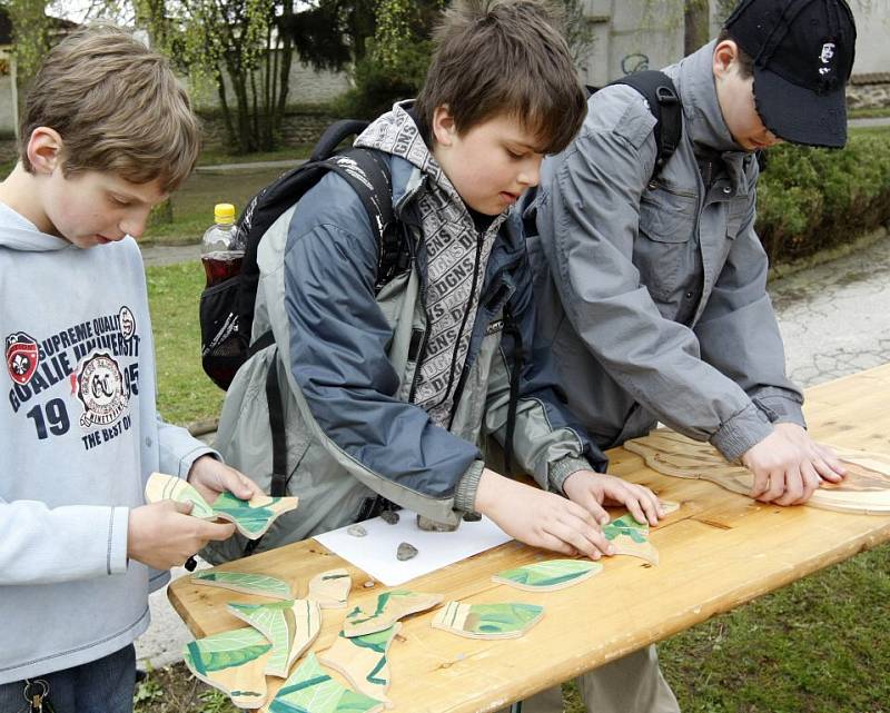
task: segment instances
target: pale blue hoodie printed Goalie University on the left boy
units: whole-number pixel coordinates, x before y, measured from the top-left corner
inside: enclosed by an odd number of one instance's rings
[[[152,471],[209,448],[155,410],[132,238],[79,249],[0,204],[0,684],[95,661],[148,626],[167,573],[127,559]]]

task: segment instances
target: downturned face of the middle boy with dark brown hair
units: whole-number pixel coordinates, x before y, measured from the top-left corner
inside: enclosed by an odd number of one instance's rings
[[[497,115],[458,133],[446,107],[433,117],[433,155],[464,202],[496,216],[540,179],[544,155],[520,121]]]

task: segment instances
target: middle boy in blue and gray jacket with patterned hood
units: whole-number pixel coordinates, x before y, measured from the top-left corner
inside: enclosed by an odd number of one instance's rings
[[[239,369],[217,439],[266,487],[266,375],[277,369],[300,507],[263,547],[372,516],[384,498],[443,523],[479,512],[517,539],[594,558],[611,552],[604,503],[657,521],[651,491],[596,472],[603,455],[564,407],[546,351],[532,349],[531,270],[511,208],[583,112],[542,3],[455,3],[417,102],[396,105],[356,141],[389,168],[392,196],[380,199],[409,236],[409,267],[375,289],[377,239],[333,172],[268,229],[253,329],[271,329],[275,344]],[[511,383],[514,453],[540,487],[483,455],[488,434],[508,437]],[[208,555],[241,556],[236,541]]]

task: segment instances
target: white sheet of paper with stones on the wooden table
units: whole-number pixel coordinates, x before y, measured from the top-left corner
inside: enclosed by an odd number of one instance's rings
[[[398,511],[398,522],[389,525],[379,517],[358,523],[364,537],[346,533],[347,527],[316,535],[315,539],[356,567],[364,570],[386,586],[397,586],[423,574],[461,562],[513,539],[491,519],[483,516],[477,523],[461,523],[452,533],[427,533],[417,527],[417,514]],[[412,559],[396,559],[398,545],[407,542],[417,547]]]

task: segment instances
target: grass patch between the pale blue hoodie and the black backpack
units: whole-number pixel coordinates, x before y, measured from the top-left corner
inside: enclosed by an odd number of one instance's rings
[[[157,355],[158,410],[175,424],[217,418],[224,393],[201,369],[198,300],[204,269],[195,260],[149,267],[146,274]]]

